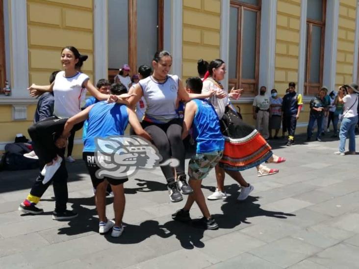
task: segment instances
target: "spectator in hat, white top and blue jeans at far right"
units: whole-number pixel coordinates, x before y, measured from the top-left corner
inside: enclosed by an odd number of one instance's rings
[[[335,155],[345,155],[352,154],[355,155],[355,126],[358,123],[358,95],[359,93],[358,85],[355,83],[350,84],[346,87],[348,94],[344,96],[343,91],[339,90],[338,92],[338,103],[344,104],[344,110],[340,132],[339,132],[339,151],[334,152]],[[344,152],[345,150],[345,140],[349,137],[349,151]]]

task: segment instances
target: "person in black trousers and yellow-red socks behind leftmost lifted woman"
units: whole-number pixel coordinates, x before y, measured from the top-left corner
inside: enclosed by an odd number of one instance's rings
[[[55,76],[59,71],[52,72],[50,75],[50,84],[55,80]],[[36,112],[34,116],[34,123],[46,120],[52,116],[53,113],[53,104],[54,104],[53,93],[45,92],[39,98],[37,103]],[[65,151],[62,150],[59,154],[63,157]],[[34,154],[36,156],[36,154]],[[28,157],[28,156],[27,156]],[[37,156],[36,156],[37,157]],[[32,156],[32,159],[34,157]],[[20,204],[19,211],[30,213],[30,214],[42,214],[44,210],[38,208],[36,205],[40,201],[41,197],[44,195],[46,190],[49,188],[52,182],[53,193],[55,196],[55,213],[52,218],[54,220],[66,220],[77,217],[77,213],[74,211],[66,210],[66,203],[68,199],[67,191],[67,178],[68,174],[65,167],[65,161],[63,160],[60,168],[53,175],[51,180],[48,183],[43,184],[42,181],[44,176],[41,174],[42,169],[45,166],[45,161],[39,159],[40,171],[37,176],[30,193],[27,195],[26,199]]]

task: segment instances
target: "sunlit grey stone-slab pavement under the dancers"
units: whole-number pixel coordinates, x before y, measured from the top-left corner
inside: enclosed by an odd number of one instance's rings
[[[239,187],[227,176],[231,196],[207,201],[220,227],[215,231],[171,219],[184,201],[169,201],[159,169],[139,171],[125,184],[126,227],[115,239],[98,234],[81,160],[68,165],[68,207],[79,213],[70,221],[51,219],[51,187],[39,203],[44,214],[19,212],[38,171],[1,171],[0,268],[359,268],[358,155],[333,155],[338,141],[328,138],[307,143],[302,136],[292,147],[282,140],[270,144],[287,161],[268,165],[280,169],[275,175],[244,171],[255,187],[244,202],[236,201]],[[214,191],[213,171],[203,185],[205,196]],[[107,203],[113,218],[112,198]],[[197,206],[190,214],[202,217]]]

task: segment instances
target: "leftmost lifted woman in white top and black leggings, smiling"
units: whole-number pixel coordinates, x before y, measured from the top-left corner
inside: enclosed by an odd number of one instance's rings
[[[53,174],[60,167],[62,158],[57,155],[57,149],[53,142],[53,134],[58,135],[62,132],[68,118],[80,112],[80,104],[85,98],[86,89],[97,99],[107,99],[108,96],[100,93],[89,81],[89,77],[84,73],[79,73],[77,68],[81,67],[83,55],[80,55],[75,47],[66,47],[61,50],[61,63],[64,71],[57,73],[51,85],[38,86],[32,84],[29,88],[30,95],[36,96],[38,91],[53,92],[55,103],[52,117],[44,121],[37,122],[28,129],[28,133],[34,143],[35,153],[39,158],[46,162],[41,171],[44,175],[43,183],[46,184]],[[128,98],[129,95],[123,96]],[[127,103],[119,97],[120,101]],[[78,123],[72,132],[79,130],[82,123]]]

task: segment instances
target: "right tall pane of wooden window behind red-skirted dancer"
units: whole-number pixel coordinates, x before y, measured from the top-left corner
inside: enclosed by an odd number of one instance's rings
[[[244,10],[243,16],[242,78],[255,79],[257,13],[255,11]]]

